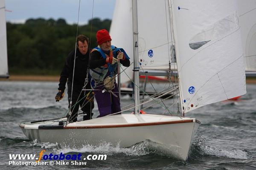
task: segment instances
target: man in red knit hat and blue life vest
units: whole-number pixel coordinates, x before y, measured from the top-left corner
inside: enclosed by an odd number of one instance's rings
[[[111,45],[111,37],[106,29],[96,33],[98,47],[91,51],[90,76],[99,116],[121,113],[119,92],[115,81],[117,61],[130,66],[130,58],[122,48]]]

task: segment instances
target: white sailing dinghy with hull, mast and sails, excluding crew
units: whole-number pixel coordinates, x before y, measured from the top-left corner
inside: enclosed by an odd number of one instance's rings
[[[133,29],[127,32],[122,30],[122,34],[127,36],[123,41],[128,41],[132,36],[133,43],[122,46],[115,42],[115,45],[127,51],[130,46],[133,48],[133,54],[128,55],[133,56],[134,62],[134,113],[68,124],[65,118],[21,123],[23,133],[30,140],[57,142],[70,147],[100,142],[130,147],[150,140],[160,144],[176,159],[186,160],[201,123],[184,114],[246,93],[236,3],[235,0],[116,0],[115,17],[116,10],[125,14],[132,11],[130,17]],[[122,18],[122,15],[118,17]],[[130,17],[122,18],[126,26],[129,26]],[[154,23],[161,19],[164,19],[163,25]],[[143,27],[148,28],[148,31],[143,32]],[[169,36],[153,36],[163,30]],[[112,37],[114,39],[116,37]],[[151,43],[157,41],[162,49],[151,46]],[[173,91],[180,90],[181,114],[140,114],[139,71],[145,68],[172,71],[172,65],[175,67],[174,63],[169,64],[172,45],[176,49],[176,69],[179,75],[178,87],[174,86]],[[167,52],[164,52],[164,47]],[[139,55],[140,51],[143,53]],[[147,65],[145,61],[148,60],[154,60],[154,64]]]

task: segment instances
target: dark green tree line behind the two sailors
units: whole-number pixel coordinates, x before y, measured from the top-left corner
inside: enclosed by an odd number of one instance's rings
[[[94,18],[78,27],[78,34],[96,47],[96,32],[109,31],[111,20]],[[64,19],[28,19],[24,24],[6,23],[9,74],[58,75],[65,58],[76,45],[77,25]]]

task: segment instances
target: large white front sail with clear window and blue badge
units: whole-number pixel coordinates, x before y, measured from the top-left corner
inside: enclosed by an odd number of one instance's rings
[[[174,0],[183,112],[246,93],[235,0]]]

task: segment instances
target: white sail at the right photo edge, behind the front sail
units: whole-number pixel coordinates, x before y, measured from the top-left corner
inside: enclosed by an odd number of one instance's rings
[[[245,71],[256,71],[256,0],[238,0]]]

